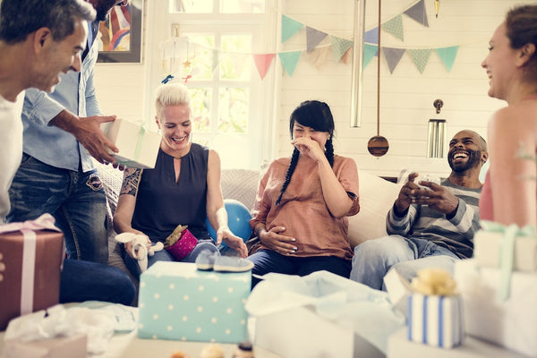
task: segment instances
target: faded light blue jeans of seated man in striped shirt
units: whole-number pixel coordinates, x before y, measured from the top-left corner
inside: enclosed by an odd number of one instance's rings
[[[444,268],[453,275],[458,257],[452,251],[425,239],[389,235],[368,240],[354,248],[351,279],[386,291],[383,278],[390,268],[408,280],[422,268]]]

